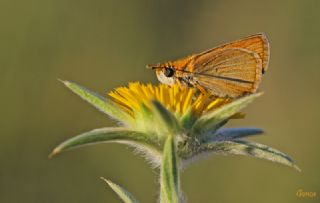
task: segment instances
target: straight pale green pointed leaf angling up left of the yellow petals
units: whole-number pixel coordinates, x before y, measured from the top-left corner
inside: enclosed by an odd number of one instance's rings
[[[82,87],[74,82],[62,81],[61,82],[68,87],[72,92],[79,95],[83,100],[92,104],[101,112],[107,114],[113,119],[121,121],[125,124],[133,123],[133,118],[125,111],[123,111],[119,106],[114,104],[112,101],[105,99],[104,97],[98,95],[89,89]]]

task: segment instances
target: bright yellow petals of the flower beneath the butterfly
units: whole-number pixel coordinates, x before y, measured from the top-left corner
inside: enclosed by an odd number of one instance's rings
[[[181,87],[176,84],[153,86],[150,83],[141,84],[140,82],[129,83],[128,87],[118,87],[110,92],[109,96],[132,116],[141,110],[141,104],[150,108],[153,100],[157,100],[178,116],[184,115],[189,109],[193,114],[200,116],[231,101],[227,98],[198,93],[194,88]]]

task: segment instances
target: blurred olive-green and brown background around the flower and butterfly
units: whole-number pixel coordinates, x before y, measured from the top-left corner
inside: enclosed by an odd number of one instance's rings
[[[149,63],[265,32],[262,98],[243,120],[252,138],[291,155],[302,172],[247,157],[210,157],[182,174],[188,202],[319,202],[319,1],[0,1],[0,202],[120,202],[99,177],[156,202],[156,172],[119,144],[47,155],[78,133],[115,123],[58,78],[101,94],[157,83]],[[298,198],[298,189],[317,197]]]

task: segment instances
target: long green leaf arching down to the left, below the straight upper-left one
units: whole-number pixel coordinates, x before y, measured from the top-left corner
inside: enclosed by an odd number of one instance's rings
[[[49,157],[76,147],[104,142],[120,142],[134,146],[138,145],[141,150],[145,149],[147,152],[161,157],[159,143],[153,138],[154,137],[149,134],[127,128],[100,128],[82,133],[64,141],[53,150]]]

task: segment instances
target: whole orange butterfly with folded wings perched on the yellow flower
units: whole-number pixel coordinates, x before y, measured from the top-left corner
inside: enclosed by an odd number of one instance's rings
[[[255,34],[176,61],[148,65],[162,83],[196,87],[218,97],[257,91],[270,56],[265,34]]]

